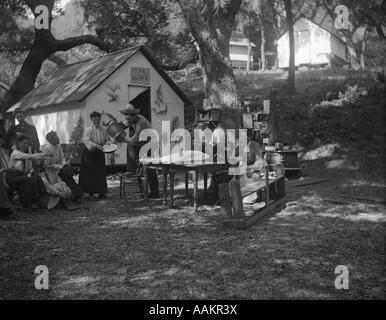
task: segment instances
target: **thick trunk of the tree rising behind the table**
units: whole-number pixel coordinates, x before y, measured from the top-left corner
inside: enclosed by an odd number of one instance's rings
[[[229,41],[241,0],[178,3],[199,46],[206,98],[222,109],[220,122],[225,128],[240,128],[241,104],[229,58]]]

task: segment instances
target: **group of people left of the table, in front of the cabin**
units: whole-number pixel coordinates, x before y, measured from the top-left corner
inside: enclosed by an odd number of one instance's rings
[[[151,128],[150,122],[128,104],[120,112],[125,116],[125,130],[129,131],[127,143],[127,170],[135,174],[139,150],[140,132]],[[47,208],[50,203],[76,203],[84,194],[104,199],[107,193],[107,177],[103,146],[114,142],[102,125],[102,114],[90,114],[92,125],[84,131],[84,148],[81,155],[79,184],[74,180],[74,169],[67,163],[58,134],[46,135],[47,143],[40,145],[36,128],[27,123],[23,110],[15,110],[17,125],[12,125],[0,142],[0,213],[13,212],[14,196],[24,207]],[[158,178],[149,171],[150,197],[159,197]],[[94,198],[95,199],[95,198]],[[55,202],[57,201],[57,202]]]

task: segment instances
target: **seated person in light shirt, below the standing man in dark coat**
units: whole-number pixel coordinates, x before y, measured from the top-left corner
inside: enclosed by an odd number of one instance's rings
[[[20,202],[27,207],[36,207],[39,198],[46,193],[46,188],[39,175],[31,171],[31,161],[45,158],[43,153],[29,154],[28,147],[30,139],[25,135],[20,135],[16,139],[16,147],[12,151],[9,169],[5,171],[5,182],[9,186],[12,194],[17,191]]]

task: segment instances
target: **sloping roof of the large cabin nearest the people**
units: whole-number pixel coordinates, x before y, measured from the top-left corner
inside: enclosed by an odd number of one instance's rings
[[[137,52],[141,52],[149,60],[185,104],[192,104],[150,53],[143,46],[138,46],[57,68],[47,83],[29,92],[8,112],[16,108],[31,110],[81,102]]]

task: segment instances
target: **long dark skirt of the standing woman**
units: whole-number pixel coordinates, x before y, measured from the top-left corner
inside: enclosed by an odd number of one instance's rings
[[[89,194],[107,193],[105,154],[102,151],[83,149],[79,186]]]

